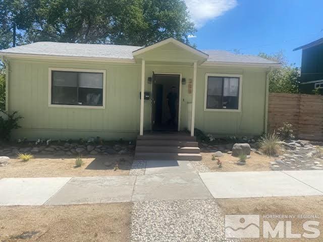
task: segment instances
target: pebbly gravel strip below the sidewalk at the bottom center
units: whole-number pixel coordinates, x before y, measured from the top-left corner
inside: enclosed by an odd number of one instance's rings
[[[135,202],[131,241],[239,241],[224,237],[224,215],[215,200]]]

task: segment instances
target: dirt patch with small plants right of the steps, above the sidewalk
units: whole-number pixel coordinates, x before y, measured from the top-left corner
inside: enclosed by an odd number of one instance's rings
[[[223,156],[218,157],[222,162],[222,168],[219,168],[216,160],[212,160],[211,156],[214,153],[201,152],[202,163],[211,171],[265,171],[271,170],[271,162],[274,162],[275,157],[258,155],[251,151],[250,158],[246,159],[245,165],[238,165],[238,157],[231,154],[223,153]]]

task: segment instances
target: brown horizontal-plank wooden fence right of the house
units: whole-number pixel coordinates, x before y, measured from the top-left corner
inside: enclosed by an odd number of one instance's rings
[[[323,96],[270,93],[268,131],[291,123],[300,139],[323,140]]]

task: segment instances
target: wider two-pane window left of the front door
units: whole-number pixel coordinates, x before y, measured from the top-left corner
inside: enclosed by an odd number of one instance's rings
[[[103,106],[103,73],[51,70],[51,105]]]

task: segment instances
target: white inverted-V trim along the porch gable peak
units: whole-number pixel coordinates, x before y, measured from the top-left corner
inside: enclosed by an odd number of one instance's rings
[[[168,39],[165,39],[165,40],[161,40],[160,42],[154,43],[154,44],[149,45],[147,47],[137,49],[137,50],[133,51],[132,54],[133,54],[133,56],[136,56],[138,54],[145,53],[145,52],[147,52],[149,50],[152,50],[154,48],[163,46],[163,45],[168,44],[168,43],[176,44],[177,46],[179,46],[179,47],[181,47],[181,48],[183,48],[183,49],[185,49],[187,51],[190,51],[190,52],[192,52],[192,53],[194,53],[194,54],[196,54],[196,55],[198,55],[198,56],[200,56],[202,58],[206,58],[206,59],[208,58],[208,54],[206,54],[206,53],[204,53],[204,52],[202,52],[200,50],[194,49],[193,47],[191,47],[191,46],[189,46],[187,44],[184,44],[184,43],[182,43],[182,42],[180,42],[180,41],[178,41],[178,40],[176,40],[174,38],[168,38]]]

